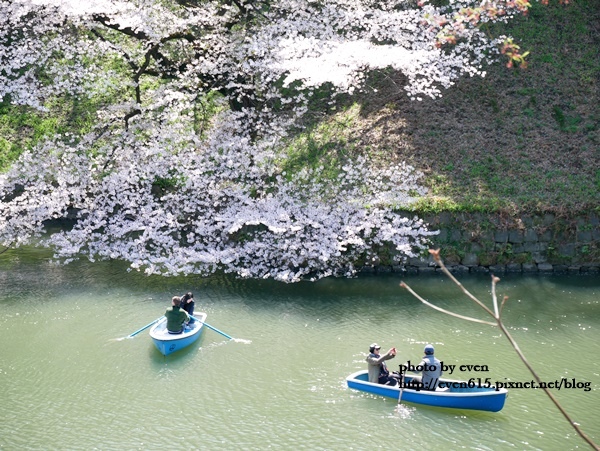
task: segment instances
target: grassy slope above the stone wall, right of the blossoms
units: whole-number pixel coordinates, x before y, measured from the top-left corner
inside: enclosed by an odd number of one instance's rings
[[[380,77],[347,139],[424,171],[422,210],[597,209],[600,1],[534,4],[503,31],[531,51],[526,70],[498,64],[422,102]]]

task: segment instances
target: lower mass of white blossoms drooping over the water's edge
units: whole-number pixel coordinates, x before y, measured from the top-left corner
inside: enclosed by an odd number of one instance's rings
[[[224,113],[212,139],[194,152],[175,151],[193,147],[194,136],[169,126],[143,142],[123,134],[111,146],[124,151],[102,176],[108,149],[94,156],[86,140],[26,153],[0,179],[0,196],[18,188],[0,203],[0,240],[38,238],[65,261],[123,259],[148,274],[220,269],[284,281],[352,274],[357,260],[373,263],[377,246],[394,246],[398,257],[423,247],[431,232],[390,208],[407,205],[409,190],[423,194],[409,167],[372,171],[358,160],[335,181],[322,177],[322,168],[288,177],[257,164],[264,143],[230,133],[244,119],[235,116]],[[158,178],[175,179],[176,187],[157,193]],[[73,207],[79,219],[72,229],[42,233],[43,221]]]

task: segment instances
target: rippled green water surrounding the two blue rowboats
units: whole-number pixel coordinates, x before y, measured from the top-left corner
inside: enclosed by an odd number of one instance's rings
[[[478,413],[397,406],[349,390],[371,342],[426,343],[449,364],[489,377],[530,374],[495,328],[436,312],[399,275],[292,285],[215,276],[148,278],[119,263],[54,266],[33,249],[0,255],[0,448],[13,449],[589,449],[541,390],[513,389]],[[442,275],[405,277],[429,301],[484,318]],[[490,300],[489,276],[463,284]],[[208,323],[190,348],[163,357],[147,331],[172,295],[192,290]],[[589,382],[553,393],[600,442],[600,278],[505,276],[505,322],[542,380]],[[488,304],[489,305],[489,304]]]

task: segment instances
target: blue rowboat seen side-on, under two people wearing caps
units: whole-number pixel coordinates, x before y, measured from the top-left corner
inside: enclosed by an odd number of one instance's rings
[[[444,378],[440,379],[439,387],[435,391],[406,388],[410,385],[413,378],[414,376],[409,374],[404,376],[403,386],[405,388],[402,388],[402,397],[400,398],[402,402],[434,407],[448,407],[451,409],[499,412],[504,407],[504,402],[508,396],[508,391],[505,388],[496,390],[496,387],[493,385],[489,388],[478,387],[477,382],[455,381]],[[393,399],[400,397],[400,386],[390,387],[389,385],[369,382],[367,370],[351,374],[346,378],[346,383],[349,388],[354,390]]]

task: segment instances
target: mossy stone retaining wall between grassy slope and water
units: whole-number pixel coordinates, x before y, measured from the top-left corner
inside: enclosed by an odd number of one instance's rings
[[[600,215],[567,217],[535,214],[519,218],[483,213],[441,213],[424,218],[439,230],[433,247],[441,250],[451,271],[543,272],[600,274]],[[377,272],[431,272],[429,256],[413,258],[405,266],[364,268]]]

